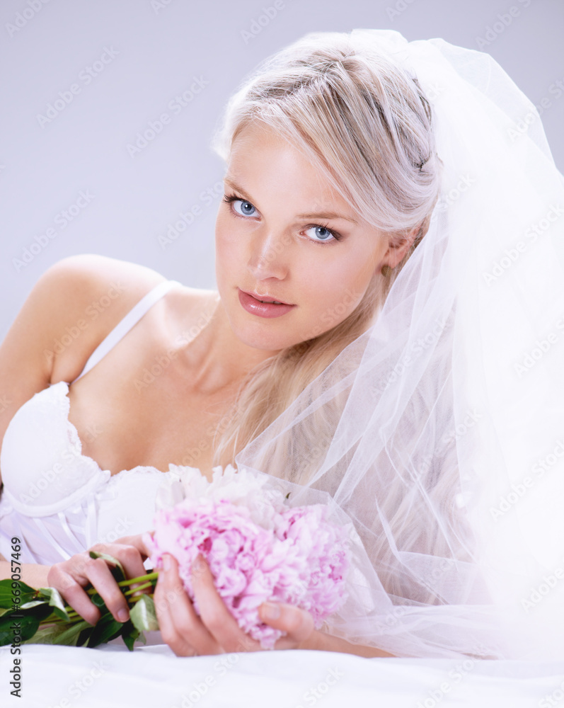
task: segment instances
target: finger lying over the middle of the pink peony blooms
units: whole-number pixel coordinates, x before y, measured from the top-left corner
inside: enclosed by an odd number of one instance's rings
[[[215,588],[212,571],[200,555],[192,565],[192,586],[202,622],[224,651],[260,650],[260,643],[243,632],[227,609]]]

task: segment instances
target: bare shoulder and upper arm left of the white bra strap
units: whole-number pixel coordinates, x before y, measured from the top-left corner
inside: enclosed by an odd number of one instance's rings
[[[93,253],[47,268],[0,344],[0,445],[25,401],[51,383],[76,378],[108,332],[163,280],[151,268]],[[109,291],[118,295],[111,307],[100,307]],[[80,336],[55,352],[55,342],[79,323]]]

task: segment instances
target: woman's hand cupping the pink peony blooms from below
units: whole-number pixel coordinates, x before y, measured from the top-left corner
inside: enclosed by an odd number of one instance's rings
[[[163,641],[176,656],[197,656],[234,651],[262,651],[260,643],[238,626],[214,586],[212,572],[202,556],[201,569],[192,566],[192,583],[200,608],[198,617],[178,575],[173,556],[163,556],[154,601]],[[280,608],[280,617],[266,616],[265,603],[260,605],[260,619],[270,627],[287,632],[275,644],[275,649],[305,649],[313,635],[313,617],[299,607],[285,603],[267,603]]]

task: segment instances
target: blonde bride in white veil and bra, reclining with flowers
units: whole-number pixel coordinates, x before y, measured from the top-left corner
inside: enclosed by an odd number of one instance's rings
[[[145,553],[135,534],[151,524],[163,474],[174,477],[167,464],[190,464],[209,476],[213,465],[234,460],[293,489],[294,503],[321,499],[335,518],[355,523],[347,605],[326,632],[313,630],[308,613],[290,605],[277,619],[263,614],[287,632],[277,648],[507,655],[517,624],[514,607],[505,616],[500,605],[510,605],[515,578],[525,588],[548,567],[548,554],[538,552],[546,534],[537,513],[534,553],[527,555],[522,518],[504,512],[494,526],[495,514],[492,520],[484,510],[495,493],[521,479],[517,463],[540,454],[551,439],[543,423],[542,439],[523,436],[512,449],[506,445],[524,425],[525,401],[536,415],[553,395],[548,387],[539,392],[539,379],[561,381],[548,358],[526,379],[500,373],[509,358],[526,356],[523,343],[530,339],[530,331],[519,331],[508,342],[508,326],[518,329],[541,315],[554,319],[560,307],[551,297],[548,312],[519,270],[525,261],[536,267],[543,256],[549,285],[558,282],[562,254],[552,250],[551,217],[536,250],[532,236],[530,251],[511,239],[536,224],[531,217],[546,198],[560,198],[562,183],[543,152],[543,136],[531,131],[512,145],[486,125],[488,118],[496,128],[510,127],[519,109],[509,98],[502,111],[492,108],[495,81],[480,84],[468,66],[472,59],[483,76],[502,81],[499,67],[476,52],[456,64],[457,52],[439,40],[408,45],[397,33],[355,30],[308,35],[259,68],[231,100],[216,143],[227,161],[216,230],[219,297],[176,287],[146,312],[168,287],[147,292],[160,287],[161,276],[96,257],[65,259],[38,282],[0,352],[6,398],[15,401],[3,414],[4,430],[12,416],[25,418],[24,409],[14,416],[18,405],[33,394],[31,401],[46,400],[45,390],[59,387],[59,400],[53,392],[50,404],[59,418],[60,411],[69,416],[72,404],[79,455],[70,456],[67,470],[72,508],[60,508],[68,489],[64,468],[54,463],[54,481],[45,489],[35,482],[35,499],[28,493],[22,502],[20,492],[18,501],[6,463],[14,470],[21,437],[17,423],[6,430],[0,464],[4,497],[10,496],[2,500],[2,530],[10,538],[16,519],[28,552],[47,561],[24,567],[24,581],[59,588],[95,621],[97,610],[82,589],[91,582],[116,619],[127,619],[108,566],[85,552],[93,541],[111,540],[100,529],[102,518],[108,528],[120,510],[137,511],[122,543],[95,546],[120,558],[134,577]],[[481,91],[478,98],[466,76]],[[490,278],[500,278],[495,258],[511,259],[513,251],[519,255],[510,262],[517,265],[507,273],[502,268],[504,279],[490,287],[488,268]],[[477,285],[480,269],[484,282]],[[117,307],[100,313],[88,336],[45,356],[115,281],[124,295],[115,297]],[[507,297],[516,287],[531,296],[524,314],[515,314]],[[122,327],[135,323],[135,329],[74,384],[88,355],[145,294]],[[502,319],[490,307],[496,300]],[[186,337],[191,329],[196,335]],[[8,384],[14,379],[18,386]],[[500,393],[512,395],[510,408]],[[45,421],[38,428],[45,430]],[[35,457],[28,469],[33,462],[37,469]],[[559,489],[550,484],[536,488],[543,499]],[[127,504],[133,491],[139,501]],[[539,498],[529,496],[517,511],[531,519],[535,503]],[[58,556],[45,550],[41,531]],[[163,639],[176,653],[258,648],[226,612],[205,564],[195,592],[200,618],[171,559],[155,597]],[[517,616],[519,629],[526,627],[527,618]]]

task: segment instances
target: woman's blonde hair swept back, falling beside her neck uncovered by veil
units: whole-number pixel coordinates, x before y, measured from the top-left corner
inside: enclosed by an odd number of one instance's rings
[[[389,275],[374,274],[343,321],[248,374],[217,428],[213,466],[233,462],[369,328],[427,231],[440,188],[431,108],[417,79],[376,48],[355,48],[347,33],[310,33],[260,64],[227,104],[215,152],[227,162],[238,134],[257,121],[297,147],[390,244],[414,230],[415,239]]]

